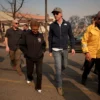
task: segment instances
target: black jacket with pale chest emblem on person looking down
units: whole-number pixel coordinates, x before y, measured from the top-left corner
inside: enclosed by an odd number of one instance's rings
[[[36,61],[43,57],[46,50],[46,43],[43,35],[34,34],[31,30],[22,34],[20,40],[20,49],[24,53],[25,58]]]

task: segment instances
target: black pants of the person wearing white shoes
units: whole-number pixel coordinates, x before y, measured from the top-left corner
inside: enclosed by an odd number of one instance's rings
[[[43,58],[32,61],[29,59],[26,59],[26,65],[27,65],[27,78],[29,81],[33,80],[33,71],[34,71],[34,65],[36,65],[36,74],[37,74],[37,80],[36,80],[36,89],[41,89],[42,84],[42,64],[43,64]]]

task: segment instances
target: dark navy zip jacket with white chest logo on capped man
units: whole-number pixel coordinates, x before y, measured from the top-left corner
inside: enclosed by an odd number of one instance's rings
[[[49,52],[52,52],[52,48],[67,49],[69,40],[71,48],[74,48],[75,40],[72,34],[70,23],[63,20],[60,27],[56,21],[53,22],[50,25],[48,40],[49,40]]]

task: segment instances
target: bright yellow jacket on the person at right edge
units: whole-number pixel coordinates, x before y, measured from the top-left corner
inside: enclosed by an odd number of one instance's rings
[[[89,52],[91,58],[100,58],[100,30],[95,25],[88,26],[81,43],[83,53]]]

